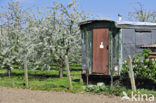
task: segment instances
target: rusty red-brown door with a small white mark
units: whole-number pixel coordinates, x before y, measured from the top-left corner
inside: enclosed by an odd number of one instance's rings
[[[93,72],[108,74],[108,29],[93,29]]]

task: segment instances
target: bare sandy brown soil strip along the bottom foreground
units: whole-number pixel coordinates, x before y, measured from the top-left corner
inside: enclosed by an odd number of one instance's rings
[[[0,103],[131,103],[121,97],[0,87]],[[141,102],[146,103],[146,102]]]

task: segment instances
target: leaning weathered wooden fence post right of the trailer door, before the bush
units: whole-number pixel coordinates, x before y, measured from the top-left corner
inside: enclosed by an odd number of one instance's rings
[[[128,56],[128,68],[129,68],[129,77],[130,77],[130,81],[131,81],[131,88],[133,91],[136,91],[134,71],[133,71],[131,56]]]

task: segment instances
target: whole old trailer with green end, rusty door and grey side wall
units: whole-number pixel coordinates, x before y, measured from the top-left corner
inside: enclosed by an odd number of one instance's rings
[[[156,23],[89,20],[80,23],[82,74],[120,75],[122,63],[156,43]]]

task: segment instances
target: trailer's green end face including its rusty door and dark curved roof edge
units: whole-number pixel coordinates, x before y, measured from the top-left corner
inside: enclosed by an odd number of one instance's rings
[[[82,54],[83,54],[82,70],[83,70],[83,73],[85,73],[86,68],[88,68],[89,75],[92,75],[93,73],[110,75],[111,67],[119,65],[119,56],[118,56],[119,55],[118,54],[119,53],[119,50],[118,50],[119,40],[118,39],[121,39],[118,36],[119,29],[115,27],[115,22],[112,22],[112,21],[105,21],[105,20],[93,21],[93,22],[90,21],[89,23],[86,23],[86,24],[87,25],[84,25],[83,23],[80,24],[80,28],[82,32]],[[99,30],[108,29],[108,32],[105,33],[106,35],[98,37],[97,35],[94,35],[95,29],[99,29]],[[97,31],[97,33],[101,34],[102,32],[99,30]],[[104,51],[102,48],[99,49],[100,44],[104,44],[104,48],[103,48]],[[105,53],[106,48],[108,49],[107,53]],[[99,58],[102,58],[104,60],[100,60]],[[122,65],[121,60],[120,60],[120,63],[121,63],[120,64],[120,68],[121,68],[121,65]],[[98,69],[95,69],[95,67]],[[118,72],[120,72],[120,70],[121,69],[118,69]]]

